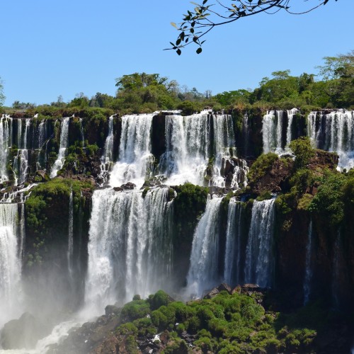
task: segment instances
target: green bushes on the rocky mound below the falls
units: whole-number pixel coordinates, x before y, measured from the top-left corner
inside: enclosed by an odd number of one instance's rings
[[[156,302],[156,298],[159,302]],[[124,324],[117,333],[132,336],[147,336],[164,331],[169,342],[164,353],[179,353],[181,333],[187,331],[194,335],[193,346],[202,353],[259,353],[310,352],[314,350],[316,325],[324,324],[325,319],[307,328],[304,314],[312,311],[305,308],[303,314],[282,315],[265,311],[257,303],[263,295],[242,295],[238,292],[229,295],[221,292],[212,299],[183,302],[171,301],[169,295],[159,290],[147,300],[135,300],[122,308]],[[160,302],[161,299],[164,301]],[[312,311],[318,315],[319,309]],[[183,352],[183,353],[188,353]]]

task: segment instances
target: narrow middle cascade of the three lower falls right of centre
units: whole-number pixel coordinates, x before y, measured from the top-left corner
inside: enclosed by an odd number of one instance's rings
[[[224,281],[240,284],[242,203],[231,199],[227,211]]]

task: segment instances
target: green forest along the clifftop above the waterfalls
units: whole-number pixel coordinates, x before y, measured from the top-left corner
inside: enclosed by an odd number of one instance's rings
[[[121,114],[152,113],[155,110],[183,110],[190,114],[205,107],[213,110],[252,107],[271,109],[353,108],[354,106],[354,52],[338,57],[325,57],[317,67],[319,74],[303,73],[292,76],[290,70],[273,72],[264,77],[254,90],[239,89],[217,93],[200,93],[198,89],[180,86],[160,74],[135,73],[116,79],[117,95],[96,93],[89,98],[78,93],[72,101],[64,103],[62,96],[50,105],[13,103],[13,109],[34,109],[50,112],[55,108],[109,108]],[[11,109],[7,109],[11,111]],[[7,111],[6,110],[6,111]]]

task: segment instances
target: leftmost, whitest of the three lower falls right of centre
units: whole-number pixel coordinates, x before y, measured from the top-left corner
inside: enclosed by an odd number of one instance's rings
[[[219,255],[219,217],[222,198],[208,197],[205,213],[200,218],[193,236],[188,291],[202,296],[204,290],[217,285]]]

